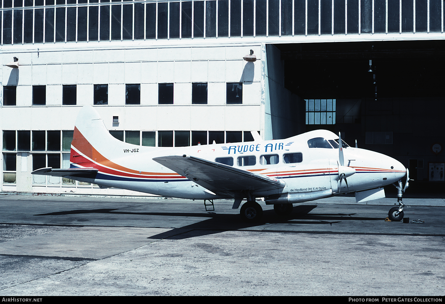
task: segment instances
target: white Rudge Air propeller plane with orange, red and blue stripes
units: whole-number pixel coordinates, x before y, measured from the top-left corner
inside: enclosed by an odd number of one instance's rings
[[[235,209],[247,199],[240,211],[246,221],[262,217],[256,198],[264,198],[279,215],[287,215],[294,203],[347,192],[355,192],[357,202],[382,198],[383,186],[394,183],[399,206],[388,217],[392,221],[403,218],[402,192],[408,188],[409,172],[399,161],[349,147],[340,134],[326,130],[283,140],[262,140],[258,132],[251,133],[251,142],[137,146],[114,138],[96,110],[85,106],[74,128],[70,168],[41,168],[32,174],[63,176],[100,188],[204,200],[204,204],[233,198]]]

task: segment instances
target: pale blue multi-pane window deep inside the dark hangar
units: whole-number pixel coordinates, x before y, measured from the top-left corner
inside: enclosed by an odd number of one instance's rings
[[[306,100],[306,124],[335,124],[335,99]]]

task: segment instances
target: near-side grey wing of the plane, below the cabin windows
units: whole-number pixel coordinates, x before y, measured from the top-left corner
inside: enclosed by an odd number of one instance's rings
[[[233,168],[225,164],[194,156],[162,156],[153,159],[159,164],[193,180],[196,184],[216,193],[233,194],[249,191],[268,191],[284,187],[273,177]]]

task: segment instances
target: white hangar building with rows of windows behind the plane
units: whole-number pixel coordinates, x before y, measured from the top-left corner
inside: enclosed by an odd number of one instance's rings
[[[3,192],[135,194],[31,175],[69,167],[83,105],[146,146],[329,129],[442,187],[442,0],[1,4]]]

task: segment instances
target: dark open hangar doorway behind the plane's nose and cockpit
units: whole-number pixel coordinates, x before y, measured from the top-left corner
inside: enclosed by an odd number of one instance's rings
[[[357,140],[359,148],[400,160],[420,192],[443,183],[445,40],[275,47],[285,88],[306,100],[306,131],[342,132],[351,146]]]

